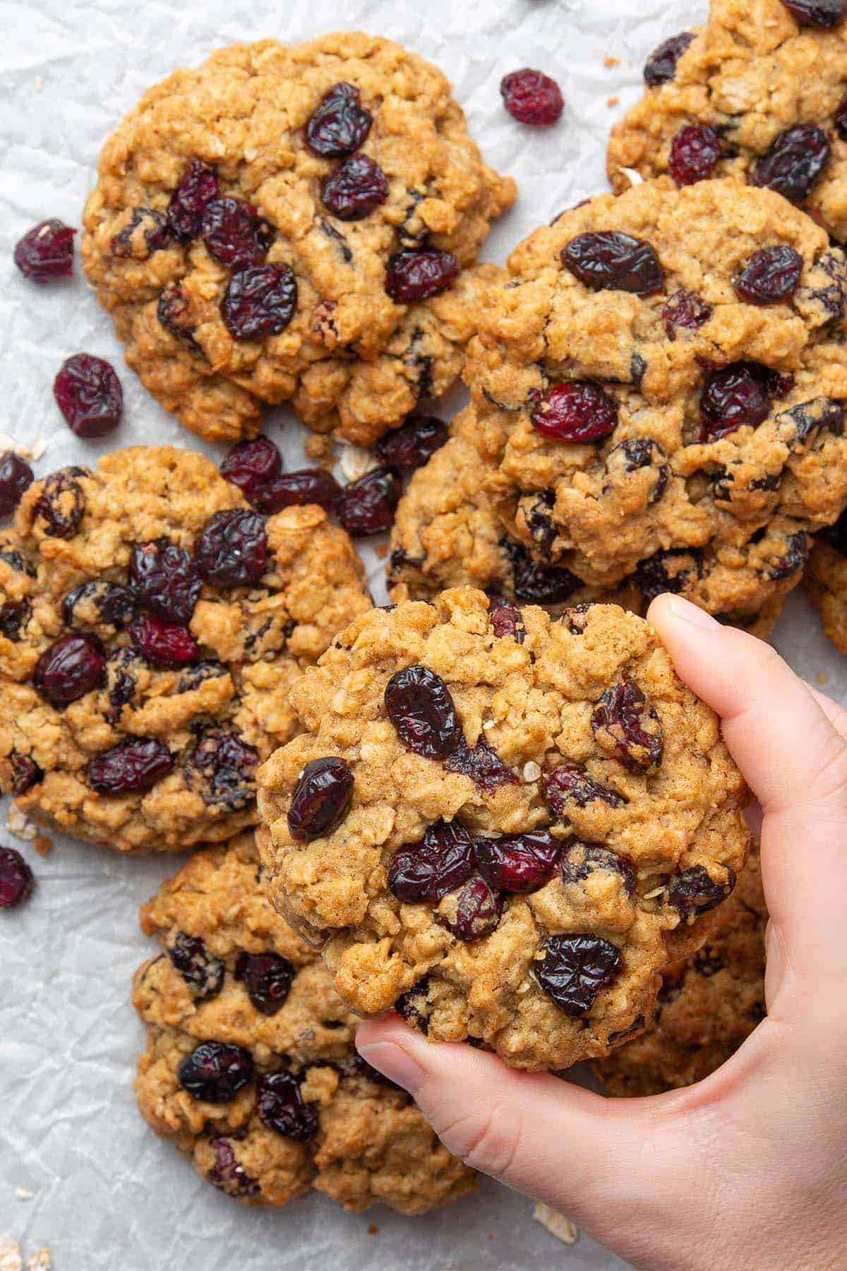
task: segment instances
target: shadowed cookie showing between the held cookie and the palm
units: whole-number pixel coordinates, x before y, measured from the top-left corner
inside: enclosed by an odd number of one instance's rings
[[[610,1094],[693,1085],[726,1063],[764,1018],[766,925],[756,850],[704,947],[664,972],[655,1028],[592,1063]]]

